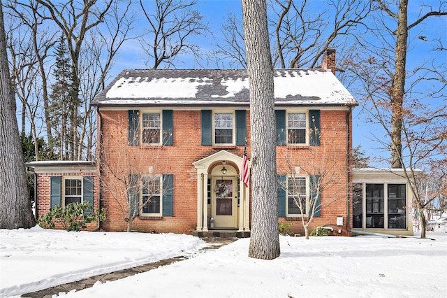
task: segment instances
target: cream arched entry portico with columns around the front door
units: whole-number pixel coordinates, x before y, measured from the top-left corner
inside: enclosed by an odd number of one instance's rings
[[[223,173],[222,162],[226,162]],[[249,187],[239,183],[242,157],[226,150],[193,162],[197,171],[197,232],[214,229],[249,229]],[[250,163],[249,163],[250,169]]]

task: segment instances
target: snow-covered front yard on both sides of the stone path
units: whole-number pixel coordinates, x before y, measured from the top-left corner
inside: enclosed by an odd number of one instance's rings
[[[187,235],[3,229],[0,297],[177,255],[191,258],[65,297],[447,297],[447,233],[427,236],[281,236],[267,261],[247,256],[249,239],[197,253]]]

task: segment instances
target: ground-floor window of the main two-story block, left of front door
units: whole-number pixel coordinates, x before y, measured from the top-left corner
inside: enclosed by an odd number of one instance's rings
[[[143,215],[161,216],[161,176],[142,177]]]

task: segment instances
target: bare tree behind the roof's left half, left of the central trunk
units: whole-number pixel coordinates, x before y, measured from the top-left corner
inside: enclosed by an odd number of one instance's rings
[[[175,66],[179,54],[190,52],[199,57],[199,46],[194,44],[194,36],[208,31],[203,16],[194,9],[197,0],[156,0],[154,7],[140,0],[142,12],[149,27],[147,38],[140,39],[142,49],[149,59],[146,66],[158,69],[160,64]],[[153,13],[152,13],[153,11]]]

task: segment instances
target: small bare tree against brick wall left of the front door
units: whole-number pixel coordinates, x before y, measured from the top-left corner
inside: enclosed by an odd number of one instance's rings
[[[138,126],[135,132],[137,133],[133,135],[133,140],[138,143]],[[149,140],[159,138],[158,133],[142,133],[142,136],[149,143]],[[144,147],[129,146],[128,136],[122,133],[110,134],[100,144],[101,191],[103,197],[110,198],[106,205],[109,212],[117,211],[122,215],[127,232],[132,231],[135,218],[145,216],[143,213],[161,213],[159,209],[154,210],[162,206],[161,195],[173,192],[170,186],[173,184],[173,177],[163,174],[167,170],[160,156],[163,146]],[[145,162],[142,163],[141,160]]]

